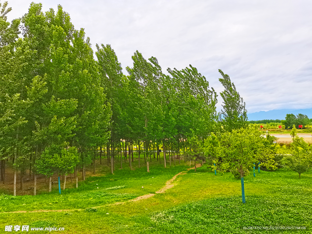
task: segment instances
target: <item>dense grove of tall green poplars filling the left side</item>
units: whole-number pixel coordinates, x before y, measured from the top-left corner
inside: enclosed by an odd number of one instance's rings
[[[125,76],[110,45],[96,45],[95,61],[84,29],[76,30],[60,5],[56,12],[41,8],[32,3],[9,23],[4,2],[0,15],[0,165],[4,182],[5,162],[12,160],[14,195],[17,172],[22,187],[27,168],[36,194],[38,174],[50,177],[50,190],[53,173],[76,176],[82,168],[84,179],[103,146],[112,173],[121,149],[131,168],[134,144],[139,155],[143,144],[150,160],[151,149],[162,145],[166,167],[167,149],[192,151],[188,136],[203,141],[220,128],[217,94],[195,67],[168,68],[167,76],[155,57],[136,51]]]

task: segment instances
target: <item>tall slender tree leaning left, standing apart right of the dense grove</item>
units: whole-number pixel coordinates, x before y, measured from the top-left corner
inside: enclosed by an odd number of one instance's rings
[[[222,78],[219,81],[224,87],[224,91],[220,93],[223,98],[223,109],[221,110],[222,125],[226,131],[247,127],[247,111],[243,98],[236,91],[234,83],[231,82],[230,76],[224,74],[219,69]]]

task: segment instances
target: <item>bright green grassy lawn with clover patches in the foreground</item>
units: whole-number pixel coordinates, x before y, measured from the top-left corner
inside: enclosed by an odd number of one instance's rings
[[[78,189],[66,189],[62,195],[57,190],[37,196],[2,194],[0,233],[7,233],[6,225],[64,227],[58,233],[312,233],[312,173],[304,173],[300,179],[282,169],[256,171],[255,178],[251,173],[245,178],[243,204],[240,181],[231,173],[215,176],[204,164],[196,173],[190,170],[179,175],[175,186],[165,193],[111,205],[155,193],[188,167],[182,163],[163,168],[152,163],[150,173],[146,168],[125,168],[114,175],[89,177]],[[37,209],[67,210],[32,212]],[[7,213],[12,211],[28,212]],[[284,229],[246,229],[276,226]],[[289,227],[305,229],[286,229]]]

